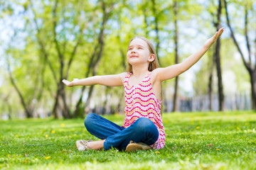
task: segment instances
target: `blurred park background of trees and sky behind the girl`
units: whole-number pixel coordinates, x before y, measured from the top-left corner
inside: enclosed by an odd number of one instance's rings
[[[167,67],[221,27],[197,64],[162,84],[164,113],[256,110],[256,1],[0,0],[0,119],[123,114],[123,87],[61,80],[125,72],[136,35]]]

